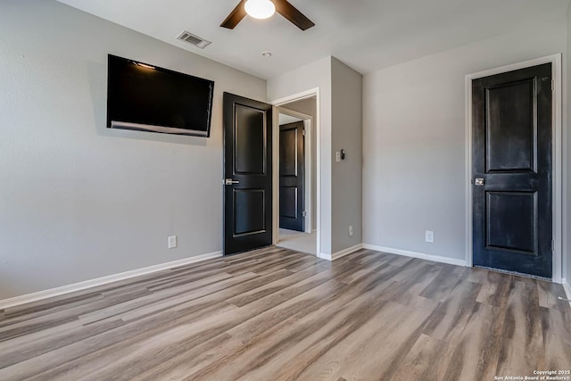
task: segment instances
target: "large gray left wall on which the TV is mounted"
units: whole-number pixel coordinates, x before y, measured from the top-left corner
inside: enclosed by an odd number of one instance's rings
[[[52,0],[0,35],[0,299],[222,249],[222,92],[264,80]],[[214,80],[211,137],[105,128],[110,53]]]

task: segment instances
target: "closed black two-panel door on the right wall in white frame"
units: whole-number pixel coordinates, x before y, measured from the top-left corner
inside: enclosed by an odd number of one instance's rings
[[[474,264],[551,277],[551,64],[472,86]]]

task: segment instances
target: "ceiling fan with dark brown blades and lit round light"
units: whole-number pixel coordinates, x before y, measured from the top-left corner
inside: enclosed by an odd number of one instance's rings
[[[274,12],[278,12],[287,20],[294,23],[299,29],[306,30],[315,24],[310,21],[302,12],[299,12],[294,5],[289,4],[287,0],[241,0],[234,8],[234,11],[228,14],[228,17],[220,27],[234,29],[238,22],[242,21],[246,14],[256,19],[267,19]]]

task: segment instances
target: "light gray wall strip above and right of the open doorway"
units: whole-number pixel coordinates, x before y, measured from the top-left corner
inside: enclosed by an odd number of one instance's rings
[[[320,251],[331,254],[331,57],[268,79],[268,100],[276,101],[319,87],[319,137],[321,140]]]

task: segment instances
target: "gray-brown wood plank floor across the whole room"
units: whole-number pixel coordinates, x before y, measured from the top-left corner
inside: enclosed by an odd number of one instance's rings
[[[493,380],[571,369],[561,286],[281,248],[0,311],[0,380]]]

